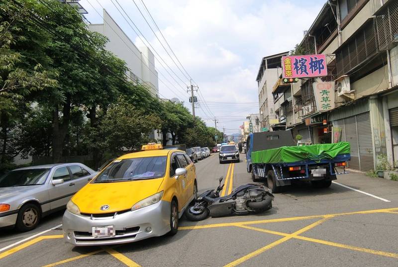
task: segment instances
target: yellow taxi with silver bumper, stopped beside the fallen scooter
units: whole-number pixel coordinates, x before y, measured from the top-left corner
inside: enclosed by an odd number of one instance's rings
[[[150,143],[115,159],[72,197],[63,217],[64,238],[93,246],[174,235],[197,192],[190,157]]]

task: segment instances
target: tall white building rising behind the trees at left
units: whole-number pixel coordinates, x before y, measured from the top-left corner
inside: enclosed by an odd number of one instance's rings
[[[155,70],[155,57],[148,47],[137,48],[105,9],[103,9],[103,23],[89,24],[89,29],[109,39],[106,50],[126,62],[129,68],[127,77],[144,85],[158,97],[159,84],[158,73]]]

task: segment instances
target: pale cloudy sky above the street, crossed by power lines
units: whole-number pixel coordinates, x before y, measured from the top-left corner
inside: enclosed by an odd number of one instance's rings
[[[117,5],[116,0],[99,0],[130,39],[140,46],[141,41],[112,1]],[[174,91],[159,82],[160,94],[167,98],[178,97],[191,110],[185,89],[189,81],[174,65],[139,13],[134,1],[162,40],[141,0],[117,1],[159,55],[184,81],[175,77],[179,82],[175,83],[155,61],[158,71],[173,82],[169,84],[159,74],[159,78]],[[214,125],[209,118],[215,116],[218,118],[217,128],[225,127],[227,134],[239,132],[239,125],[242,125],[246,115],[259,112],[255,80],[261,59],[293,49],[325,3],[325,0],[142,1],[184,68],[199,85],[201,103],[196,108],[196,114],[204,118],[209,126]],[[89,11],[86,17],[91,23],[102,23],[96,12],[102,14],[99,2],[80,1]],[[165,43],[164,46],[167,48]]]

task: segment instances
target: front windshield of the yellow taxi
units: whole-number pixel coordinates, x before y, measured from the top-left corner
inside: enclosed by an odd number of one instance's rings
[[[154,179],[165,176],[167,156],[115,160],[94,182]]]

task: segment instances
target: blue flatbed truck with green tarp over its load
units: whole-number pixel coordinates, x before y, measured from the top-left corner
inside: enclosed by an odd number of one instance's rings
[[[351,158],[348,142],[297,146],[289,130],[252,133],[246,148],[247,172],[253,180],[266,179],[273,192],[293,180],[328,187],[337,174],[348,174],[345,167]]]

